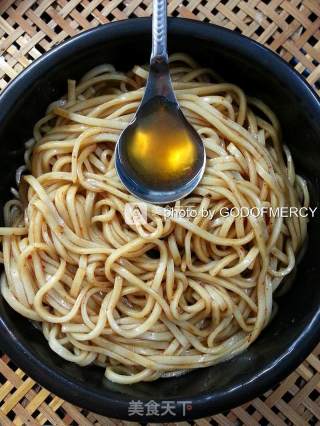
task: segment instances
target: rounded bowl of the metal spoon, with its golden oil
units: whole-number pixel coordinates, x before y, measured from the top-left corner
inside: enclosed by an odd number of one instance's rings
[[[136,197],[157,204],[187,196],[200,182],[205,150],[177,103],[151,98],[117,144],[116,169]]]

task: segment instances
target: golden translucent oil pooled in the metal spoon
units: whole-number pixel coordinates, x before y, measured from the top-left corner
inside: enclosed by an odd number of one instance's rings
[[[192,179],[201,161],[199,136],[176,104],[155,97],[138,112],[125,134],[125,157],[138,182],[174,188]]]

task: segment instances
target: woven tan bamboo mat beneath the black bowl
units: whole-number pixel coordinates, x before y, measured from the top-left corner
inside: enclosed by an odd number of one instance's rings
[[[62,40],[96,25],[149,16],[151,0],[0,0],[0,90]],[[265,44],[320,92],[320,0],[170,0],[169,14],[213,22]],[[126,425],[77,408],[0,359],[0,425]],[[133,423],[130,423],[133,425]],[[188,425],[320,425],[320,345],[265,395]]]

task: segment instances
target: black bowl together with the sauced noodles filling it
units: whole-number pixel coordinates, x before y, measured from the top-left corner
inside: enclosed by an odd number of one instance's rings
[[[320,105],[261,45],[169,19],[206,171],[179,202],[141,203],[114,147],[150,37],[150,19],[82,33],[2,93],[0,336],[62,398],[159,422],[254,398],[318,342]]]

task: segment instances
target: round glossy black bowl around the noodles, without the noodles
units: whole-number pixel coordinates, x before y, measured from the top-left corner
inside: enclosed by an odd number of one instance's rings
[[[318,205],[320,104],[312,89],[278,56],[236,33],[213,25],[169,19],[169,51],[191,54],[202,65],[263,99],[278,115],[297,169],[310,182]],[[67,41],[22,72],[0,97],[0,197],[9,198],[15,169],[23,162],[23,142],[46,106],[94,65],[120,69],[148,61],[151,20],[134,19],[101,26]],[[235,407],[271,388],[310,353],[320,334],[320,220],[309,224],[307,252],[293,287],[279,297],[279,311],[259,339],[223,364],[174,379],[134,386],[115,385],[97,367],[81,368],[55,355],[41,333],[0,299],[1,348],[43,386],[81,407],[136,421],[178,421]],[[175,415],[130,416],[133,403],[174,401]],[[184,416],[183,405],[190,401]],[[164,402],[162,405],[166,405]],[[137,406],[137,404],[136,404]],[[146,413],[147,408],[143,407]],[[158,407],[159,408],[159,407]],[[149,410],[152,411],[152,410]],[[163,414],[162,410],[160,413]]]

